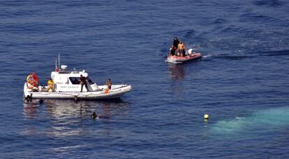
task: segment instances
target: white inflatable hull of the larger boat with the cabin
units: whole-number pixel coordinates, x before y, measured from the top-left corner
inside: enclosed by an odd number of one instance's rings
[[[94,92],[33,92],[24,85],[24,96],[32,95],[32,99],[117,99],[122,94],[131,91],[131,85],[114,85],[110,92],[105,93],[105,90]]]

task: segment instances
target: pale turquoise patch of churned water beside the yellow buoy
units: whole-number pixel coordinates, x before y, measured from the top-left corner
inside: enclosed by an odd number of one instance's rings
[[[269,133],[289,126],[289,108],[269,108],[253,112],[246,117],[218,121],[212,126],[212,133],[236,135],[248,133]],[[269,131],[269,132],[268,132]],[[272,133],[272,132],[271,132]]]

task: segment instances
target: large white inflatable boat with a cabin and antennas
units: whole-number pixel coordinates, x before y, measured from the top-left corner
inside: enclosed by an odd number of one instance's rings
[[[66,71],[67,66],[62,65],[61,69],[51,72],[52,85],[38,86],[36,74],[27,76],[24,83],[24,97],[28,99],[116,99],[122,94],[131,91],[131,85],[112,85],[108,89],[107,85],[96,85],[89,79],[89,74],[82,72]],[[87,87],[83,85],[81,90],[80,76],[87,78]]]

